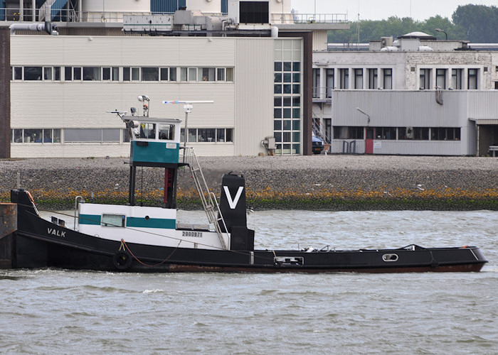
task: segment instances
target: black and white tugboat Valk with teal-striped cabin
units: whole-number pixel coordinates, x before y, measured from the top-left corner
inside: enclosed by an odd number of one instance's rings
[[[144,96],[145,97],[145,96]],[[192,102],[185,104],[185,122]],[[30,193],[11,190],[18,229],[0,243],[8,268],[66,268],[127,272],[402,273],[480,271],[486,259],[477,246],[399,249],[254,250],[248,229],[243,175],[223,175],[219,202],[209,192],[194,149],[181,146],[181,121],[148,115],[120,116],[130,136],[127,205],[76,203],[74,229],[38,214]],[[185,131],[186,124],[185,124]],[[137,205],[137,167],[164,168],[164,207]],[[179,168],[194,179],[208,225],[176,221]],[[1,250],[4,249],[4,250]]]

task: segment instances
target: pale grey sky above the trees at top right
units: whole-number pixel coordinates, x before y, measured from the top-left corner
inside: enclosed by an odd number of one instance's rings
[[[398,16],[422,21],[435,15],[451,20],[459,5],[498,6],[498,0],[291,0],[292,9],[299,13],[314,13],[315,4],[317,13],[347,13],[349,21],[356,21],[358,13],[363,20]]]

